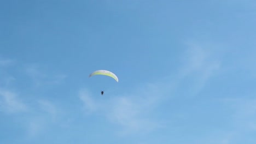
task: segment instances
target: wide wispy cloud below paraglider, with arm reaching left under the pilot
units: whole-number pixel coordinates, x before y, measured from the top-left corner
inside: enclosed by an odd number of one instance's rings
[[[136,134],[161,127],[161,123],[153,118],[154,108],[164,99],[164,94],[158,87],[150,85],[139,86],[139,91],[123,95],[115,95],[109,99],[99,100],[92,97],[88,91],[80,91],[79,98],[88,112],[100,113],[109,122],[120,125],[120,135]],[[105,96],[103,96],[105,97]],[[159,120],[159,119],[158,119]]]

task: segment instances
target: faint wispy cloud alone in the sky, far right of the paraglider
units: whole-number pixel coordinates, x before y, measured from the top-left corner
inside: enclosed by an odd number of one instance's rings
[[[188,91],[190,96],[199,93],[213,75],[221,69],[221,61],[218,55],[207,44],[190,42],[188,48],[181,57],[183,65],[178,71],[176,83],[184,88],[184,83],[189,81]],[[194,84],[192,84],[194,83]]]

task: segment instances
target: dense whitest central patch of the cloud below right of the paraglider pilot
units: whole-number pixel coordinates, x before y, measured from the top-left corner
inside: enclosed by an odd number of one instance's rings
[[[140,97],[142,95],[130,96]],[[143,134],[147,134],[161,125],[152,118],[152,110],[154,110],[152,107],[156,103],[152,103],[150,98],[142,100],[120,97],[112,99],[109,105],[105,115],[113,123],[123,126],[124,129],[120,131],[121,135],[136,134],[142,131]]]

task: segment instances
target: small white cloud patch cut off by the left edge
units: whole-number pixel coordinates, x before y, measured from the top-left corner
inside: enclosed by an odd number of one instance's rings
[[[0,91],[0,106],[3,112],[14,113],[24,112],[27,106],[16,97],[16,94],[9,91]]]

